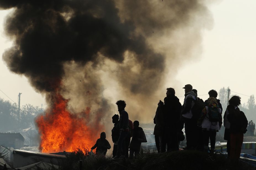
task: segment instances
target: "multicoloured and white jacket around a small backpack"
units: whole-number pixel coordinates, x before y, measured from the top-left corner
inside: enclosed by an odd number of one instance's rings
[[[217,107],[219,114],[220,120],[216,123],[212,123],[209,120],[209,107]],[[201,117],[197,121],[198,125],[202,126],[202,130],[209,130],[209,131],[219,131],[220,127],[222,125],[222,116],[221,116],[221,109],[218,107],[218,105],[213,104],[213,105],[208,105],[205,106],[204,109],[202,110]]]

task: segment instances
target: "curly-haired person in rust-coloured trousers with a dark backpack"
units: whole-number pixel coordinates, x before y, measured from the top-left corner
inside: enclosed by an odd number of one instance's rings
[[[230,158],[233,163],[237,163],[241,154],[241,147],[244,140],[244,133],[247,131],[248,121],[244,113],[238,108],[241,104],[241,97],[233,96],[228,103],[228,114],[226,113],[226,117],[229,122],[230,132]]]

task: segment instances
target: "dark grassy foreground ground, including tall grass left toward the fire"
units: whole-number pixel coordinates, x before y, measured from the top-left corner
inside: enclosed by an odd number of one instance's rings
[[[248,159],[231,162],[221,153],[209,154],[195,150],[155,153],[148,149],[141,150],[140,158],[133,160],[112,160],[110,156],[90,154],[88,149],[78,148],[76,152],[67,155],[60,170],[79,169],[79,160],[83,162],[82,169],[90,170],[146,170],[146,169],[178,169],[178,170],[255,170],[255,165]]]

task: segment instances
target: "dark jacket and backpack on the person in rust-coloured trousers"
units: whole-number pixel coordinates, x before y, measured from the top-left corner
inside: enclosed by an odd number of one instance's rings
[[[246,133],[248,120],[238,107],[227,115],[227,119],[230,122],[230,133]]]

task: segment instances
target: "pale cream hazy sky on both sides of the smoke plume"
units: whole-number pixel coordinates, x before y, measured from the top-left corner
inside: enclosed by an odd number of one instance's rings
[[[175,79],[169,80],[167,86],[174,87],[177,96],[184,95],[182,87],[185,84],[196,88],[198,95],[207,94],[210,89],[218,91],[223,86],[229,86],[231,91],[245,95],[256,94],[253,75],[256,60],[256,1],[225,0],[209,5],[209,9],[213,15],[214,26],[212,30],[202,32],[201,56],[184,60]],[[11,46],[11,41],[3,34],[3,21],[7,13],[8,11],[0,11],[0,56]],[[17,96],[21,92],[22,105],[45,105],[44,96],[35,92],[25,76],[11,73],[2,57],[0,80],[0,90],[14,102],[17,102]],[[9,100],[1,91],[0,97]],[[240,96],[242,103],[246,103],[249,97]],[[207,97],[206,95],[201,98]],[[179,98],[182,102],[183,97]]]

